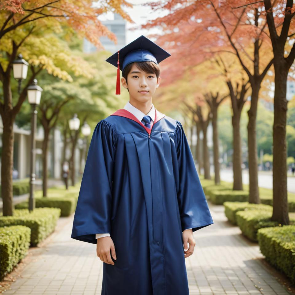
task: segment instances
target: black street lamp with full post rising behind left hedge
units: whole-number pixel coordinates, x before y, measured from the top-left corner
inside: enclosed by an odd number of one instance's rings
[[[34,184],[36,180],[36,174],[35,174],[35,158],[36,158],[35,131],[36,131],[36,125],[37,125],[36,105],[40,104],[41,92],[43,91],[43,89],[37,85],[37,80],[34,79],[32,85],[30,85],[27,90],[28,90],[28,101],[32,106],[29,211],[33,211],[35,209]]]

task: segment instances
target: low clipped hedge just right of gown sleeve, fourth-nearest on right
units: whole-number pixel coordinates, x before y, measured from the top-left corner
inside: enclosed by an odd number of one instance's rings
[[[249,199],[248,191],[233,191],[224,189],[209,191],[210,201],[216,205],[222,205],[226,201],[234,202],[246,202]]]

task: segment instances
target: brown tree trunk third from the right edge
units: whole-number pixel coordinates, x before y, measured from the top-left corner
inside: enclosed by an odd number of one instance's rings
[[[233,173],[234,173],[234,183],[233,190],[243,190],[243,180],[242,180],[242,146],[241,146],[241,133],[240,133],[240,114],[234,114],[232,116],[233,125]]]

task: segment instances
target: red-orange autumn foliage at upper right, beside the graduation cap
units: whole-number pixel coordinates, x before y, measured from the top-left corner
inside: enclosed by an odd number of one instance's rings
[[[272,45],[266,22],[264,2],[251,0],[168,0],[146,3],[152,10],[168,12],[163,17],[148,21],[144,29],[158,27],[161,35],[156,42],[171,57],[163,61],[163,75],[167,84],[174,83],[187,69],[200,64],[216,53],[228,52],[228,58],[239,55],[254,74],[254,41],[259,41],[259,73],[273,58]],[[272,1],[274,22],[280,34],[285,16],[286,1]],[[294,10],[294,6],[292,8]],[[292,19],[289,36],[292,44],[295,22]],[[232,41],[229,41],[229,37]],[[233,46],[234,45],[234,46]],[[236,50],[234,49],[236,48]],[[290,51],[286,43],[286,53]]]

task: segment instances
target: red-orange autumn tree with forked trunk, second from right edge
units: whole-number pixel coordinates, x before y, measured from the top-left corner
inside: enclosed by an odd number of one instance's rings
[[[270,54],[262,54],[270,47],[265,36],[267,27],[260,22],[261,9],[246,6],[234,10],[238,1],[206,0],[202,2],[169,0],[152,2],[152,9],[168,9],[166,16],[149,21],[142,28],[160,27],[161,36],[157,36],[160,45],[166,44],[174,54],[173,64],[184,67],[200,63],[206,56],[214,53],[230,52],[240,62],[251,85],[251,107],[248,111],[248,154],[249,154],[249,202],[259,203],[258,191],[258,155],[256,144],[256,117],[258,94],[267,71],[273,64]],[[185,32],[185,33],[184,33]],[[253,41],[252,41],[253,40]],[[167,63],[169,59],[167,59]],[[173,68],[173,67],[172,67]],[[179,74],[178,73],[178,74]],[[171,72],[172,79],[177,73]]]

